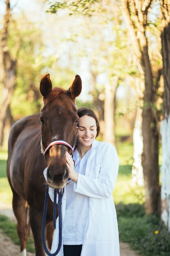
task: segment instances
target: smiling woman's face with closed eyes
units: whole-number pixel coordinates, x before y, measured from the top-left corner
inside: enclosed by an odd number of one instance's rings
[[[78,127],[78,143],[82,146],[91,146],[97,135],[95,119],[89,116],[80,117]]]

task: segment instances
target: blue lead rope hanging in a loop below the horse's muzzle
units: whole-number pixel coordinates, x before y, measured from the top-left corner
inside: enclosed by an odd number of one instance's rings
[[[58,207],[58,221],[59,221],[59,242],[58,242],[58,248],[54,253],[50,253],[46,247],[45,242],[45,222],[46,222],[46,211],[47,211],[47,204],[49,200],[49,186],[46,184],[46,193],[45,193],[45,201],[44,201],[44,211],[42,216],[42,244],[44,247],[44,251],[49,256],[56,256],[61,249],[62,246],[62,196],[63,196],[62,190],[54,189],[54,208],[53,208],[53,227],[56,228],[56,204]],[[56,202],[57,199],[57,193],[58,193],[58,203]]]

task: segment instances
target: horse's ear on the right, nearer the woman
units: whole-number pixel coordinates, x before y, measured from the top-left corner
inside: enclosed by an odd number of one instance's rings
[[[71,87],[68,89],[68,94],[72,99],[75,99],[82,91],[82,79],[79,75],[75,76],[75,79],[71,85]]]

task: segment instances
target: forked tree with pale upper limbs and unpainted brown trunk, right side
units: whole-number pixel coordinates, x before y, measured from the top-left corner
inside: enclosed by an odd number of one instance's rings
[[[159,130],[157,117],[153,106],[157,101],[157,86],[160,78],[159,65],[157,68],[152,64],[150,45],[148,42],[147,28],[149,24],[148,13],[154,1],[124,0],[122,12],[131,34],[131,40],[135,46],[135,53],[144,73],[144,106],[142,111],[142,136],[143,153],[142,167],[145,185],[145,210],[146,214],[159,211],[160,188],[159,188]],[[148,31],[149,32],[149,31]]]

